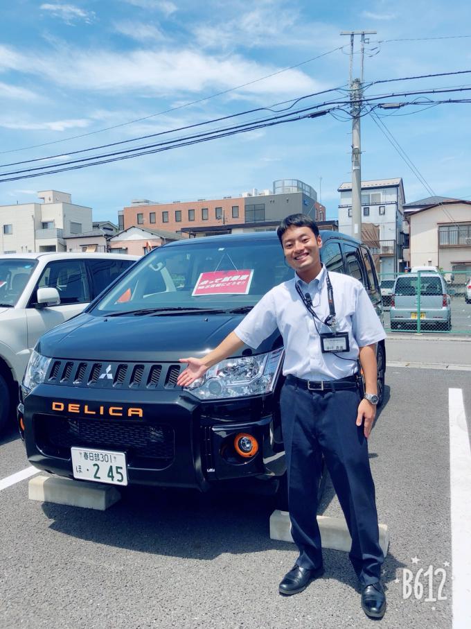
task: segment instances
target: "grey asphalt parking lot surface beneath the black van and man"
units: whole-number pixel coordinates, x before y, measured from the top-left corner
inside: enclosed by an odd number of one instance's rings
[[[469,373],[389,368],[386,384],[370,438],[378,514],[391,535],[381,626],[451,628],[448,395],[463,390],[469,424]],[[0,479],[28,467],[15,433],[0,444],[0,465]],[[320,507],[341,517],[329,481]],[[0,626],[371,626],[347,553],[324,551],[323,578],[279,596],[296,551],[269,539],[273,508],[260,495],[127,488],[98,512],[28,501],[28,481],[16,483],[0,491]],[[433,601],[442,580],[443,600]]]

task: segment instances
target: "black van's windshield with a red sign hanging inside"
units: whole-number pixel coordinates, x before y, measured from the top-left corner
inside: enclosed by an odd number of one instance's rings
[[[155,249],[91,312],[249,309],[293,277],[278,239],[201,240]]]

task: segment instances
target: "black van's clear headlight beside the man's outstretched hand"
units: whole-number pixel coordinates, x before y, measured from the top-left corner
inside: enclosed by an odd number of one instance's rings
[[[283,358],[283,347],[268,354],[242,356],[213,365],[204,378],[185,387],[199,399],[224,399],[261,395],[274,388]]]

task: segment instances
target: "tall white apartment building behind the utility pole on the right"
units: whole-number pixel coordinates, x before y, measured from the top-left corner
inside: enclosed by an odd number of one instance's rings
[[[342,183],[340,193],[339,232],[352,233],[352,184]],[[404,221],[405,195],[402,178],[362,181],[362,225],[377,225],[380,241],[368,243],[379,255],[380,275],[404,270],[402,255],[408,226]],[[378,246],[379,244],[379,246]]]

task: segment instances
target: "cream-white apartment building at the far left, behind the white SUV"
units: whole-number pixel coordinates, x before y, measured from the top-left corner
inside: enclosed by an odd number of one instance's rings
[[[42,203],[0,205],[0,253],[66,251],[66,236],[92,230],[91,207],[57,190],[38,192]]]

